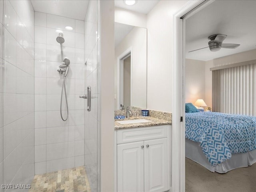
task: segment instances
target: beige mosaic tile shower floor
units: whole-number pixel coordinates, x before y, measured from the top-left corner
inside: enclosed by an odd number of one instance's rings
[[[29,192],[91,192],[84,166],[35,175]]]

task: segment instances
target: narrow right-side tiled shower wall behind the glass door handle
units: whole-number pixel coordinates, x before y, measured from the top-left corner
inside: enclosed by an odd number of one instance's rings
[[[85,168],[92,191],[97,190],[97,141],[99,141],[99,34],[98,34],[98,1],[90,1],[84,21],[85,42],[85,92],[87,86],[92,88],[92,108],[85,110]],[[99,158],[99,157],[98,157]],[[98,164],[99,166],[99,164]],[[99,178],[99,177],[98,177]],[[98,181],[100,182],[100,181]]]

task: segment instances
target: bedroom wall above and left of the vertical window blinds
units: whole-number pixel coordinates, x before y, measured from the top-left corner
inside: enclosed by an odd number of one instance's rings
[[[212,106],[212,72],[210,68],[256,59],[256,49],[205,62],[205,102]]]

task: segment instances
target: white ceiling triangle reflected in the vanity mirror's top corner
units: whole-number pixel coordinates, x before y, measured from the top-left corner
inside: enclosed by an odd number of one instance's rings
[[[134,26],[115,22],[115,47],[134,28]]]

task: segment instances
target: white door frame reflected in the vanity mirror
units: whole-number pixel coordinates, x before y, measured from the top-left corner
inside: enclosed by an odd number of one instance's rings
[[[120,105],[124,104],[124,60],[131,56],[131,90],[132,95],[132,47],[122,52],[117,58],[117,109],[121,109]],[[132,104],[132,97],[130,100]]]

